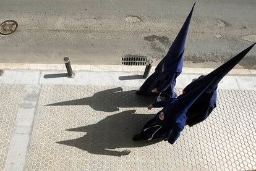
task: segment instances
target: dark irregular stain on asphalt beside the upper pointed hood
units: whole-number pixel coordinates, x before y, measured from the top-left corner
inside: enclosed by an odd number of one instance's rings
[[[169,41],[169,38],[166,36],[156,36],[156,35],[151,35],[144,37],[144,40],[150,41],[151,43],[151,48],[156,51],[160,52],[162,54],[165,54],[166,47],[168,47],[171,44],[171,41]]]

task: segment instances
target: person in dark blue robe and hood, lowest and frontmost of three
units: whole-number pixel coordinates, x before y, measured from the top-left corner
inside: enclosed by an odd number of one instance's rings
[[[211,85],[215,78],[202,83],[190,93],[184,94],[182,98],[169,102],[155,117],[149,120],[142,131],[135,135],[133,140],[153,140],[163,138],[173,144],[186,125],[186,112],[196,99]]]

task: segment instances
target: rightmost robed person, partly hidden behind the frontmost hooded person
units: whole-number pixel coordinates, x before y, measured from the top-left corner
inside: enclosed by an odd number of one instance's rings
[[[220,83],[221,79],[231,70],[233,67],[240,61],[242,58],[252,49],[252,46],[240,52],[232,59],[228,60],[225,64],[218,67],[218,69],[213,70],[213,72],[208,73],[208,75],[201,75],[197,80],[192,81],[189,85],[184,88],[183,93],[189,93],[193,91],[197,86],[202,84],[207,80],[211,80],[213,77],[216,77],[215,81],[211,83],[211,85],[205,90],[202,95],[189,107],[187,111],[187,125],[192,127],[193,125],[202,122],[207,119],[207,117],[211,114],[213,109],[216,107],[216,99],[217,99],[217,88],[218,83]],[[184,94],[177,97],[182,98]]]

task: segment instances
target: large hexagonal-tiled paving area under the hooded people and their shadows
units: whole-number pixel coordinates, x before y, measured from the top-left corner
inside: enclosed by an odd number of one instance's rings
[[[152,99],[135,88],[44,85],[27,170],[256,169],[255,91],[218,91],[218,107],[174,145],[134,142]],[[181,90],[177,90],[178,94]]]

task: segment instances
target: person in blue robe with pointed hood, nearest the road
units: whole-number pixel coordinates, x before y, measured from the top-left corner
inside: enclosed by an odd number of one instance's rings
[[[194,6],[168,53],[156,66],[155,72],[140,86],[140,90],[136,92],[137,94],[158,96],[164,91],[170,98],[174,98],[174,86],[176,85],[176,78],[182,71],[184,46]]]

